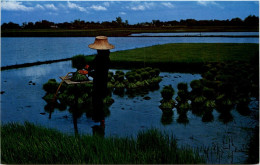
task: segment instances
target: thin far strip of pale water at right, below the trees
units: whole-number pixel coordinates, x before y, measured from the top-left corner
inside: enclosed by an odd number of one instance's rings
[[[138,33],[130,36],[259,36],[259,32]]]

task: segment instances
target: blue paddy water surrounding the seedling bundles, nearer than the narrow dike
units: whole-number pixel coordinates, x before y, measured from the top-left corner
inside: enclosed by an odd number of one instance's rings
[[[74,71],[69,61],[2,71],[1,90],[5,93],[1,95],[1,123],[29,121],[74,134],[72,114],[68,110],[55,109],[49,119],[48,112],[44,110],[46,102],[42,99],[45,95],[42,85],[50,78],[56,78],[60,82],[58,77],[66,75],[69,71]],[[250,128],[254,127],[252,116],[241,116],[232,110],[233,121],[224,124],[218,119],[219,113],[213,111],[214,121],[204,123],[201,117],[188,112],[189,123],[184,125],[177,122],[178,114],[174,109],[172,123],[164,125],[161,122],[162,111],[158,107],[162,99],[160,91],[163,86],[171,84],[177,93],[179,82],[189,83],[194,79],[200,79],[201,76],[167,72],[161,73],[160,76],[163,77],[163,81],[159,84],[158,90],[136,97],[126,94],[123,97],[112,95],[115,103],[109,107],[110,115],[105,119],[105,135],[135,137],[139,131],[158,128],[173,133],[179,145],[212,148],[210,151],[213,154],[209,156],[209,163],[243,163],[247,157],[244,151],[250,137]],[[29,83],[30,81],[32,82]],[[151,97],[151,100],[145,100],[145,96]],[[256,100],[251,105],[252,111],[254,108],[258,108]],[[97,124],[87,118],[85,113],[77,119],[80,134],[92,134],[92,126]],[[219,150],[214,150],[216,146],[223,151],[220,160],[216,154]]]

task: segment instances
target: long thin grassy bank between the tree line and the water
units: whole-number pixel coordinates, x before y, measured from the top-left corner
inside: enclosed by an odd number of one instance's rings
[[[103,28],[103,29],[10,29],[2,30],[2,37],[126,37],[132,33],[170,32],[258,32],[258,27],[250,26],[174,26],[142,28]]]

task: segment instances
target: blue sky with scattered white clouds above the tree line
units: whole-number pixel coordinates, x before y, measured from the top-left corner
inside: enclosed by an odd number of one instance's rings
[[[7,1],[1,0],[4,22],[94,22],[112,21],[120,16],[129,24],[181,19],[226,20],[259,16],[258,1]]]

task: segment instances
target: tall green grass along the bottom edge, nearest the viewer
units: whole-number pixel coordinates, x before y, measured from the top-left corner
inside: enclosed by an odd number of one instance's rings
[[[1,126],[1,163],[204,163],[191,149],[151,129],[133,138],[70,136],[25,122]]]

